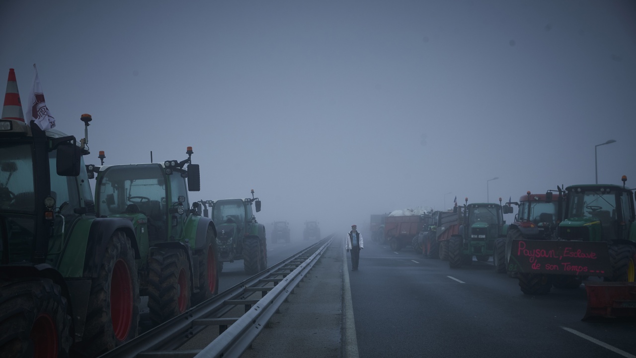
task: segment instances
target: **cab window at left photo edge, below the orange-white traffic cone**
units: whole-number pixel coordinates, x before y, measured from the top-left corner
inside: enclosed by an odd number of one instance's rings
[[[34,212],[31,153],[29,144],[0,146],[0,210]]]

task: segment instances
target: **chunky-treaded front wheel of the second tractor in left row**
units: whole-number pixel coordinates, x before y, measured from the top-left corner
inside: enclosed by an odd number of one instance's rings
[[[148,308],[154,326],[190,308],[190,266],[183,250],[155,248],[148,272]]]

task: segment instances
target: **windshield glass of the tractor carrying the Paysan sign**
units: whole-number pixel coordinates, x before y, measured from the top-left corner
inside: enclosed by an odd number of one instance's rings
[[[569,192],[568,217],[593,217],[602,225],[616,220],[616,194],[614,192]]]

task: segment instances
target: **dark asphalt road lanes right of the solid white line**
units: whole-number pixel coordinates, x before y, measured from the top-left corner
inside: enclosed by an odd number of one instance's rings
[[[526,296],[492,261],[450,269],[371,241],[358,271],[347,257],[359,357],[636,357],[636,324],[581,321],[583,287]]]

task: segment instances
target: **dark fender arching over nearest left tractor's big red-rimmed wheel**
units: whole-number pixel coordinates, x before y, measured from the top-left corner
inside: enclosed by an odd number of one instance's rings
[[[135,259],[141,259],[139,244],[132,222],[125,218],[95,218],[88,231],[88,245],[84,256],[84,277],[97,277],[99,266],[104,260],[108,240],[115,231],[122,231],[130,238],[130,246],[135,251]]]

